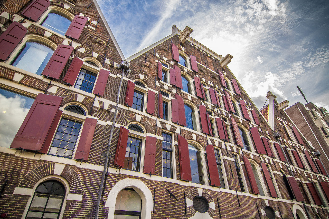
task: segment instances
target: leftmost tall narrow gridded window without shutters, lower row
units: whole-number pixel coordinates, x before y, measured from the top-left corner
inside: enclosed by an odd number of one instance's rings
[[[172,175],[172,138],[170,134],[162,133],[162,176],[173,178]]]

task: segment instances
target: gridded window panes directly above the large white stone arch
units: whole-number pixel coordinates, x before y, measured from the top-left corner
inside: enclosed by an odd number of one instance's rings
[[[124,168],[139,171],[141,140],[128,136]]]

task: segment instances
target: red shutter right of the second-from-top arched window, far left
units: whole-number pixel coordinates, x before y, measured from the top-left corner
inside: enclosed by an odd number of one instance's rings
[[[60,78],[73,49],[73,46],[59,45],[41,75],[46,77],[49,75],[49,77],[55,79]]]

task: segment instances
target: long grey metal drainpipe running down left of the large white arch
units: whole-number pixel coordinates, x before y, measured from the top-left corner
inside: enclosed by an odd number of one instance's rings
[[[115,120],[116,120],[116,114],[118,112],[119,98],[120,98],[120,93],[121,93],[121,87],[122,87],[124,72],[125,72],[125,70],[123,68],[122,69],[121,80],[120,80],[120,85],[119,85],[118,98],[116,99],[114,118],[113,118],[113,123],[112,123],[112,127],[111,127],[111,133],[110,133],[110,140],[109,140],[109,144],[107,145],[107,151],[106,151],[105,163],[104,163],[104,170],[103,170],[103,174],[102,174],[101,184],[99,185],[99,190],[98,190],[98,199],[97,199],[97,204],[96,204],[95,219],[98,218],[99,205],[100,205],[101,198],[102,198],[102,189],[103,189],[103,185],[104,185],[104,181],[105,181],[105,174],[107,172],[107,166],[108,166],[108,163],[109,163],[109,155],[110,155],[110,148],[111,148],[111,142],[112,142],[112,135],[113,135],[113,131],[114,131],[114,124],[115,124]]]

